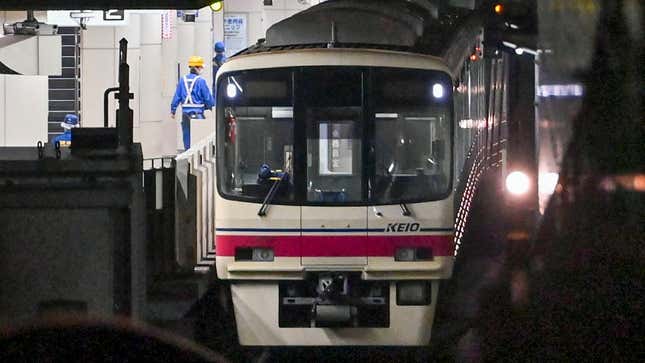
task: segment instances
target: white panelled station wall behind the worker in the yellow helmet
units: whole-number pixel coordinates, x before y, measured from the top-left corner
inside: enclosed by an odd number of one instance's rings
[[[275,22],[318,3],[319,0],[309,0],[309,4],[304,5],[297,0],[274,0],[272,6],[264,6],[262,0],[227,2],[223,12],[201,9],[195,23],[173,18],[175,27],[170,39],[161,39],[160,14],[132,14],[127,26],[88,27],[81,35],[82,126],[103,124],[103,92],[117,85],[118,42],[126,37],[130,86],[135,94],[131,101],[135,141],[142,143],[146,158],[174,155],[183,148],[180,117],[170,119],[170,102],[178,76],[188,71],[188,57],[200,55],[206,61],[203,76],[210,86],[212,46],[224,38],[224,15],[247,14],[248,45],[251,45],[264,38],[266,29]],[[114,124],[115,106],[112,99],[111,125]],[[192,123],[193,144],[214,131],[214,114],[207,112],[206,116],[206,120]]]

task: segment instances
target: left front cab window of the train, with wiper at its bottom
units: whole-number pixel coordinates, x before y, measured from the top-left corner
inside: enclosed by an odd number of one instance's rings
[[[293,201],[292,72],[227,74],[218,82],[217,95],[220,192],[261,202],[279,183],[273,201]]]

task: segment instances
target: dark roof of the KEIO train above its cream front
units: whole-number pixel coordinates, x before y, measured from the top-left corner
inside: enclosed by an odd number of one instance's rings
[[[438,57],[457,73],[481,41],[481,28],[476,14],[440,16],[430,1],[330,0],[274,24],[266,39],[233,57],[299,49],[375,49]]]

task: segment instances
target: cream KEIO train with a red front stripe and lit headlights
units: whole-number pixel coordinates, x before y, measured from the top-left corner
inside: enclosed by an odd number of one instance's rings
[[[481,17],[436,10],[328,1],[219,70],[216,268],[240,344],[430,341],[507,77]]]

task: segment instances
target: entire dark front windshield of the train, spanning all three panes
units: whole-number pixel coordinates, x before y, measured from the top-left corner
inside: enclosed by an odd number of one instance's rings
[[[218,188],[277,204],[437,200],[451,188],[452,88],[441,72],[304,67],[218,81]]]

